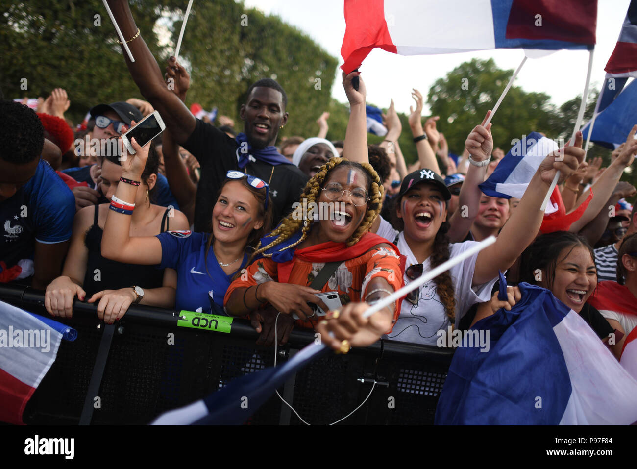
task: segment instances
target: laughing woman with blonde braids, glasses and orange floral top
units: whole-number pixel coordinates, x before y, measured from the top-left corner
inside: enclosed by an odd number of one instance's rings
[[[382,184],[369,164],[330,159],[308,181],[300,206],[261,240],[255,255],[263,257],[230,285],[225,294],[227,313],[245,315],[269,303],[284,315],[297,314],[297,325],[309,328],[322,318],[308,303],[329,309],[315,296],[320,291],[338,291],[346,305],[371,303],[400,288],[398,250],[369,233],[382,198]],[[340,264],[320,290],[311,288],[313,279],[331,262]],[[398,314],[396,302],[376,313],[364,328],[345,322],[340,326],[343,347],[374,342]],[[354,329],[357,333],[348,333]]]

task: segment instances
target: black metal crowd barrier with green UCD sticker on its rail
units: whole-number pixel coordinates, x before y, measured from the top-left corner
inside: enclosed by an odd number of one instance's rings
[[[47,315],[41,291],[0,285],[0,299]],[[109,341],[102,340],[106,328],[97,319],[96,305],[76,300],[73,319],[57,319],[77,329],[78,338],[62,341],[55,363],[25,409],[27,424],[79,424],[81,419],[147,424],[274,362],[274,348],[255,345],[257,333],[241,319],[229,328],[220,324],[222,319],[214,324],[194,321],[198,328],[190,321],[190,327],[183,327],[180,312],[132,305]],[[278,348],[277,363],[314,339],[313,331],[294,329],[285,347]],[[105,342],[103,375],[97,391],[89,393]],[[358,407],[376,382],[369,399],[342,424],[432,424],[452,355],[449,349],[380,340],[347,355],[313,361],[279,393],[306,422],[329,424]],[[276,394],[247,423],[302,424]]]

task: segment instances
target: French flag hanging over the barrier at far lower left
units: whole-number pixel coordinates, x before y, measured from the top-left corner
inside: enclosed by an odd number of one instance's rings
[[[21,425],[22,412],[55,361],[62,338],[77,331],[0,301],[0,421]]]

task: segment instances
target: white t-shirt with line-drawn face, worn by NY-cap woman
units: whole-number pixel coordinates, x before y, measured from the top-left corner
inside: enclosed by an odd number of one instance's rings
[[[477,242],[474,241],[450,244],[450,258],[457,256],[476,244]],[[406,267],[419,264],[415,256],[413,256],[412,250],[409,249],[409,246],[404,240],[404,233],[399,235],[398,249],[401,254],[407,257]],[[468,259],[465,259],[459,264],[455,264],[450,270],[455,292],[456,327],[462,316],[466,314],[471,306],[475,303],[490,301],[491,290],[497,280],[497,277],[495,277],[486,284],[471,287],[477,257],[478,253],[476,252],[476,254]],[[427,258],[423,263],[423,272],[426,273],[430,270],[430,261],[429,258]],[[405,276],[404,282],[408,284],[411,280]],[[435,282],[429,280],[429,282],[420,287],[416,305],[413,305],[407,301],[407,299],[403,299],[401,313],[396,324],[394,324],[394,329],[392,329],[389,335],[385,335],[383,338],[399,340],[401,342],[420,343],[423,345],[436,345],[436,340],[438,340],[436,333],[438,333],[440,329],[446,331],[450,325],[447,314],[445,314],[445,307],[440,301],[440,296],[438,296],[438,292],[436,291],[437,288]]]

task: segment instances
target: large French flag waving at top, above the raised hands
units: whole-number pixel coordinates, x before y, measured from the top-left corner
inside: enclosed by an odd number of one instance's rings
[[[597,0],[345,0],[347,73],[380,47],[401,55],[495,48],[585,49]]]

